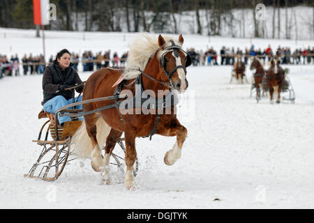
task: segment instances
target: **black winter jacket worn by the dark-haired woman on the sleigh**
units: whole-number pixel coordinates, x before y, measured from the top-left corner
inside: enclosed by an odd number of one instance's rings
[[[60,85],[68,85],[73,86],[75,84],[82,83],[77,72],[72,67],[73,64],[70,63],[70,66],[63,70],[57,61],[50,66],[45,68],[45,72],[43,73],[43,102],[41,104],[45,104],[47,100],[50,100],[57,95],[62,95],[66,100],[73,98],[73,91],[64,91],[56,93],[59,90]],[[77,93],[81,93],[84,89],[84,85],[76,88]]]

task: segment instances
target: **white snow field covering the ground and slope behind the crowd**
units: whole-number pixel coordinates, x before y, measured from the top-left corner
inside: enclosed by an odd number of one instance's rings
[[[1,49],[13,45],[17,50],[22,44],[17,53],[39,53],[40,40],[14,38],[15,32],[33,31],[6,31],[11,37],[2,39]],[[65,46],[83,50],[75,33],[59,32],[55,39],[52,34],[47,35],[49,54]],[[89,33],[85,47],[100,49],[103,36],[106,46],[100,50],[123,52],[123,35]],[[186,47],[208,44],[206,37],[185,38]],[[216,40],[217,45],[250,45],[249,40],[226,43],[224,38],[212,38],[211,44]],[[275,46],[277,41],[293,45],[288,40],[256,40],[256,45]],[[42,76],[5,77],[0,80],[0,208],[314,208],[314,66],[283,68],[290,68],[294,105],[286,100],[271,104],[269,98],[257,104],[249,96],[251,84],[229,83],[231,66],[189,67],[189,90],[178,115],[188,129],[181,159],[171,167],[163,163],[175,137],[137,139],[139,171],[132,191],[115,167],[112,184],[104,185],[90,160],[83,159],[68,162],[53,182],[24,178],[40,153],[31,140],[45,122],[37,118]],[[251,70],[246,73],[250,79]],[[80,72],[82,80],[90,74]]]

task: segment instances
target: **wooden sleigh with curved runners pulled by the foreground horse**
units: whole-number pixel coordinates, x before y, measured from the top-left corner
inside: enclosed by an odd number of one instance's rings
[[[68,162],[73,162],[73,160],[77,160],[77,154],[71,150],[71,139],[77,129],[80,128],[80,125],[82,125],[82,121],[78,121],[77,118],[86,114],[82,113],[81,109],[69,109],[69,107],[110,99],[110,97],[106,97],[82,102],[73,102],[70,105],[61,107],[56,114],[50,114],[43,110],[40,111],[38,118],[48,119],[40,128],[38,138],[33,140],[33,142],[38,144],[41,148],[40,155],[36,162],[31,166],[31,169],[29,169],[28,174],[24,174],[24,177],[40,178],[46,181],[57,180],[65,169],[66,164]],[[57,114],[60,114],[61,116],[70,116],[71,121],[67,121],[64,123],[64,126],[61,127],[58,124]],[[112,162],[110,162],[110,164],[117,167],[122,173],[125,173],[123,155],[126,153],[126,148],[124,146],[123,138],[120,138],[117,141],[117,147],[118,146],[120,147],[120,150],[117,149],[116,151],[118,152],[112,153],[113,160],[111,159]],[[136,160],[133,171],[134,176],[137,174],[137,169],[138,162]]]

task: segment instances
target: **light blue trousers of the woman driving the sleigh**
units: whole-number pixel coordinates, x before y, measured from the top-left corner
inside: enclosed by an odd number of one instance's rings
[[[82,95],[80,96],[80,98],[75,98],[75,102],[81,102],[82,101]],[[48,100],[47,102],[45,102],[45,104],[43,105],[43,109],[45,110],[45,112],[49,112],[52,114],[55,114],[57,112],[58,109],[60,109],[63,106],[66,105],[70,105],[73,103],[73,99],[69,99],[66,100],[66,98],[64,98],[61,95],[58,95],[50,100]],[[73,109],[73,107],[69,107],[68,109]],[[76,109],[83,109],[82,105],[77,105]],[[83,117],[80,117],[79,120],[83,120]],[[58,121],[60,124],[65,123],[66,121],[71,121],[71,118],[68,116],[59,116],[58,114]]]

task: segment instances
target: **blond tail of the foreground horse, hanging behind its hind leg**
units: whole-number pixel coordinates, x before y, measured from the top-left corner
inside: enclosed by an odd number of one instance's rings
[[[110,130],[110,126],[105,123],[103,118],[98,118],[98,120],[96,121],[96,139],[98,141],[98,146],[100,149],[103,149]],[[71,153],[77,155],[78,157],[91,158],[91,151],[93,150],[93,148],[91,146],[91,139],[87,134],[85,121],[82,122],[80,128],[78,128],[73,135],[70,146]]]

